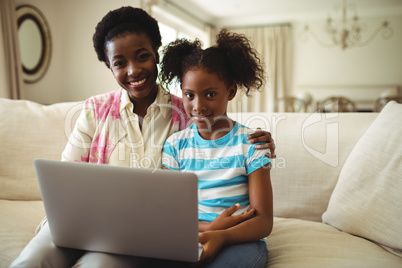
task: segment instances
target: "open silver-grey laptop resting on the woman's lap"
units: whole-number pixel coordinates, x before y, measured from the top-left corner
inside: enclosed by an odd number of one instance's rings
[[[46,159],[34,165],[56,246],[199,259],[195,174]]]

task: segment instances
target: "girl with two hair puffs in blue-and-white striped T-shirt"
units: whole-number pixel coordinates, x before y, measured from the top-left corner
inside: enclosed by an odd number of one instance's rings
[[[200,264],[265,267],[264,238],[273,225],[270,159],[247,142],[252,131],[226,114],[241,86],[248,93],[263,83],[256,52],[246,37],[226,30],[205,50],[199,41],[177,40],[164,51],[161,75],[165,83],[179,81],[193,122],[167,139],[162,163],[198,175]]]

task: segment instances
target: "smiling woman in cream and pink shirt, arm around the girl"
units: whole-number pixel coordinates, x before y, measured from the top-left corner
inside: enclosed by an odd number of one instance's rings
[[[64,161],[161,167],[161,148],[183,128],[182,101],[157,84],[161,35],[157,21],[139,8],[108,12],[93,36],[98,59],[119,85],[86,100],[62,154]],[[250,135],[269,141],[269,133]],[[157,187],[157,185],[155,185]],[[74,197],[72,197],[74,198]],[[77,219],[79,220],[79,219]],[[46,221],[44,221],[46,222]],[[11,267],[155,267],[154,260],[58,248],[45,223]],[[166,266],[163,263],[162,266]]]

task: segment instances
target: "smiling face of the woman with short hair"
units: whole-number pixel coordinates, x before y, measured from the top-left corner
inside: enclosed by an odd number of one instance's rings
[[[110,69],[132,101],[154,98],[159,62],[151,40],[142,33],[128,33],[106,43]]]

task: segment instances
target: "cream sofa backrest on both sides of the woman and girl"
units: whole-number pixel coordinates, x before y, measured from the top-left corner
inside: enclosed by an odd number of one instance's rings
[[[82,105],[46,106],[0,99],[0,199],[41,199],[33,160],[61,159]],[[274,215],[321,221],[343,163],[377,114],[229,116],[253,129],[269,130],[275,139],[277,159],[271,171]]]

